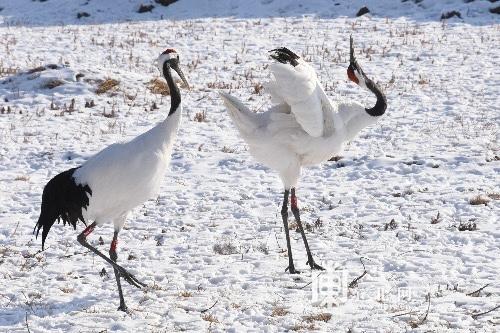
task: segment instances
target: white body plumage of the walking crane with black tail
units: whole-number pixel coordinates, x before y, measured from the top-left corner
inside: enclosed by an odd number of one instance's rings
[[[75,181],[92,189],[83,214],[86,221],[98,225],[113,222],[119,230],[131,209],[158,194],[181,113],[182,105],[156,127],[129,142],[105,148],[75,171]]]

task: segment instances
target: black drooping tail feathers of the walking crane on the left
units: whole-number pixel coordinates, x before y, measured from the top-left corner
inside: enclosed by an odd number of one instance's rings
[[[82,209],[89,205],[87,193],[91,196],[92,190],[88,185],[75,183],[73,173],[76,169],[69,169],[58,174],[43,189],[40,217],[33,230],[38,238],[38,233],[42,229],[42,249],[44,249],[47,234],[56,220],[59,222],[62,219],[64,225],[71,224],[73,229],[76,229],[78,220],[86,224]]]

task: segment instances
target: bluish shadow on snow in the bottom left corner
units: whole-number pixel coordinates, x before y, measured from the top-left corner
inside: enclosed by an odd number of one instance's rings
[[[24,323],[26,314],[28,316],[37,316],[40,318],[51,317],[58,314],[70,314],[70,312],[80,312],[100,300],[93,296],[75,297],[66,302],[52,302],[43,304],[28,304],[13,308],[0,309],[0,331],[2,326],[12,326],[19,323]]]

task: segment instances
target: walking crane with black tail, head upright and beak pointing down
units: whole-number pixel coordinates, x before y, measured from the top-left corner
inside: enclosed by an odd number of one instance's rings
[[[34,232],[42,229],[42,249],[50,228],[56,220],[72,225],[82,221],[88,225],[78,235],[78,242],[113,266],[120,297],[118,310],[127,311],[120,277],[141,288],[145,284],[116,263],[118,233],[128,213],[137,205],[156,196],[170,163],[170,154],[181,121],[182,104],[179,87],[173,78],[177,72],[188,86],[179,67],[179,55],[167,49],[158,57],[158,69],[170,89],[170,112],[164,121],[126,143],[115,143],[90,157],[77,168],[52,178],[42,194],[40,217]],[[114,235],[109,257],[87,242],[96,226],[113,223]]]

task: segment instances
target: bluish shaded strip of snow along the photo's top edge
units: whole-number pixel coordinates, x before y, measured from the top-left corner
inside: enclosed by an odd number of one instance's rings
[[[439,21],[456,12],[451,22],[497,24],[499,15],[489,12],[489,1],[449,0],[0,0],[0,26],[62,26],[203,18],[355,18],[364,6],[365,16],[406,17],[419,22]]]

